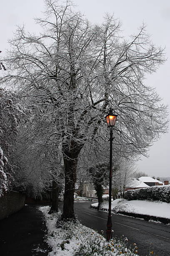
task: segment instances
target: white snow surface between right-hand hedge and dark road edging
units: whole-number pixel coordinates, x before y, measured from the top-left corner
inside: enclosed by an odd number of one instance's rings
[[[97,206],[98,203],[92,204]],[[102,208],[108,209],[108,202],[103,202],[101,205]],[[124,211],[124,212],[133,212],[138,214],[152,215],[161,218],[170,219],[170,204],[166,202],[150,202],[143,200],[125,200],[125,199],[116,199],[112,201],[112,210]]]

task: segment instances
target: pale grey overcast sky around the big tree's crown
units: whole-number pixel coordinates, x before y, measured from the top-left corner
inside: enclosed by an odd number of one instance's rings
[[[76,9],[82,11],[93,23],[102,22],[104,13],[114,13],[122,21],[126,37],[135,33],[144,22],[151,34],[153,43],[166,46],[168,61],[146,80],[155,87],[165,104],[170,105],[170,1],[169,0],[74,0]],[[5,54],[7,39],[13,37],[17,24],[25,24],[28,31],[38,31],[33,17],[42,16],[43,0],[8,0],[0,8],[0,50]],[[1,54],[2,56],[2,54]],[[170,109],[170,108],[169,108]],[[170,132],[154,143],[149,151],[150,157],[138,161],[140,171],[150,176],[170,176]]]

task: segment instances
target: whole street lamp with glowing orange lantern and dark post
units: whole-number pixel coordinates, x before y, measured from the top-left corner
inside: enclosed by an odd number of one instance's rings
[[[112,141],[113,141],[113,127],[115,125],[117,115],[112,113],[112,108],[108,115],[105,117],[108,127],[110,128],[110,167],[109,167],[109,212],[107,219],[107,230],[106,230],[106,240],[111,239],[112,234],[112,215],[111,215],[111,197],[112,197]]]

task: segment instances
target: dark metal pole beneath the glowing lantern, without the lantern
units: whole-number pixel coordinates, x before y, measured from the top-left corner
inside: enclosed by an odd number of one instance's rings
[[[113,131],[110,127],[110,168],[109,168],[109,213],[107,219],[107,230],[106,230],[106,240],[111,239],[112,234],[112,215],[111,215],[111,197],[112,197],[112,141],[113,141]]]

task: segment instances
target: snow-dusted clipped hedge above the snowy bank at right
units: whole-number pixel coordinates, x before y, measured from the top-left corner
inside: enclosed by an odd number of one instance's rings
[[[154,200],[170,203],[170,185],[127,190],[124,198],[127,200]]]

